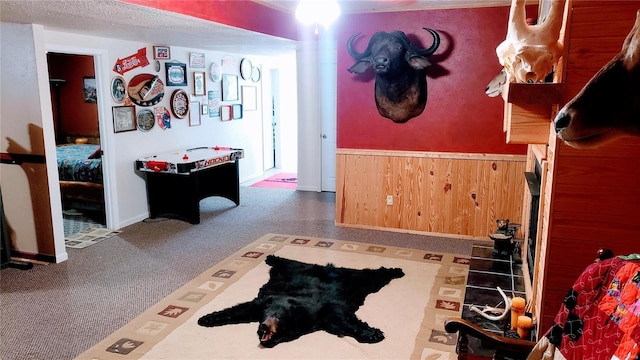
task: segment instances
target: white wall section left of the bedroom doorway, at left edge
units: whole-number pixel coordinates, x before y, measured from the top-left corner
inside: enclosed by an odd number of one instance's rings
[[[41,51],[43,28],[1,23],[0,34],[2,152],[48,155],[55,142],[53,137],[43,138],[43,133],[53,132],[46,56]],[[38,164],[30,166],[3,164],[0,167],[0,186],[12,243],[25,253],[45,253],[56,261],[64,261],[67,253],[62,222],[52,222],[62,218],[62,211],[43,204],[39,197],[52,190],[48,200],[60,203],[55,161],[47,161],[44,168]],[[53,173],[54,177],[47,177],[42,170]],[[34,177],[35,173],[42,176]],[[55,246],[51,246],[52,238]]]

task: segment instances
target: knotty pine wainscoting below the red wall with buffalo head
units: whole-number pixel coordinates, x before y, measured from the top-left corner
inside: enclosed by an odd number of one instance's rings
[[[336,157],[337,225],[488,240],[496,219],[520,223],[525,155],[338,149]]]

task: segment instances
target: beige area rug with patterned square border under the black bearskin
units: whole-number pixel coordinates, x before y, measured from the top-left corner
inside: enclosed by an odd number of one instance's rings
[[[201,327],[198,318],[250,301],[269,279],[267,255],[353,269],[399,267],[405,276],[370,294],[357,316],[385,339],[361,344],[324,331],[274,348],[259,346],[258,323]],[[469,258],[391,246],[267,234],[205,271],[78,359],[456,359]]]

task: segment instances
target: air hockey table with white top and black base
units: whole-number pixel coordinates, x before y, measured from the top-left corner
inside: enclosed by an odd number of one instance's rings
[[[145,174],[151,219],[167,216],[200,223],[200,200],[222,196],[240,205],[238,160],[242,149],[198,147],[135,161]]]

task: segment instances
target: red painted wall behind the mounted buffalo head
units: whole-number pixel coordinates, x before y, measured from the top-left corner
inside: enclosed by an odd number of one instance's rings
[[[528,13],[530,15],[530,13]],[[338,34],[338,148],[462,153],[525,154],[525,145],[505,143],[501,97],[486,85],[501,69],[495,54],[507,32],[509,7],[370,13],[343,16]],[[382,117],[374,100],[374,75],[351,74],[347,41],[363,51],[377,31],[400,30],[412,42],[431,45],[423,27],[440,33],[440,47],[427,68],[427,106],[404,124]]]

